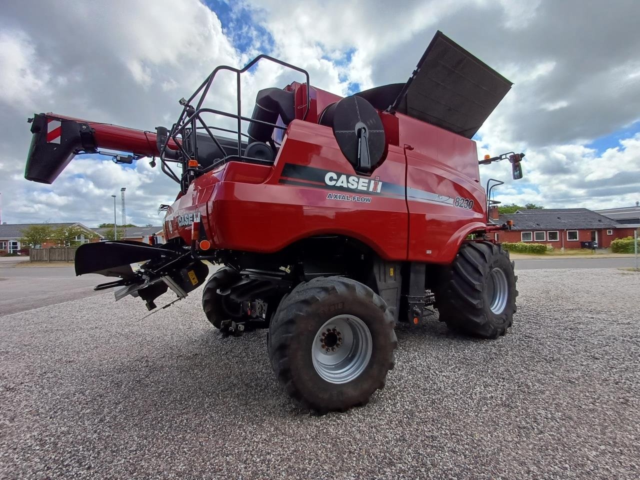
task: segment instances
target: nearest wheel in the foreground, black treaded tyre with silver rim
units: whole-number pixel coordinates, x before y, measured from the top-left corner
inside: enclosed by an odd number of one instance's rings
[[[344,277],[314,278],[282,300],[269,352],[287,393],[319,413],[364,405],[385,385],[397,346],[387,304]]]

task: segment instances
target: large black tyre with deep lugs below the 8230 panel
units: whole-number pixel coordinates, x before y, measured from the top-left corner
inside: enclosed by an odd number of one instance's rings
[[[463,243],[436,293],[440,319],[452,330],[470,335],[487,339],[504,335],[516,312],[517,280],[502,245]]]

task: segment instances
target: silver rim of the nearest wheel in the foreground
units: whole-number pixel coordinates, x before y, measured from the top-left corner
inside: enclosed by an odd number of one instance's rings
[[[367,325],[353,315],[338,315],[317,331],[311,358],[323,380],[347,383],[358,378],[369,365],[372,349]]]

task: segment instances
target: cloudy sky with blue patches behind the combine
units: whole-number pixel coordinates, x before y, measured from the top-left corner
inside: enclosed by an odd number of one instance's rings
[[[216,67],[265,52],[347,95],[404,82],[440,29],[515,85],[477,134],[479,155],[524,151],[502,202],[607,208],[640,200],[637,0],[110,0],[8,2],[0,11],[2,221],[113,221],[127,188],[129,220],[161,225],[176,184],[148,161],[124,168],[76,157],[52,186],[24,180],[33,113],[153,130],[170,126]],[[295,77],[259,67],[245,104]],[[231,81],[210,101],[231,108]],[[243,94],[244,97],[245,94]],[[247,106],[251,109],[250,106]]]

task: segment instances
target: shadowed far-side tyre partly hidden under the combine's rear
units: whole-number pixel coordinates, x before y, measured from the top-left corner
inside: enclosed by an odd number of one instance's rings
[[[202,309],[211,324],[220,330],[225,320],[241,321],[243,319],[242,305],[238,301],[230,300],[218,293],[219,289],[227,288],[239,280],[240,274],[232,268],[223,267],[216,271],[204,286],[202,292]]]

